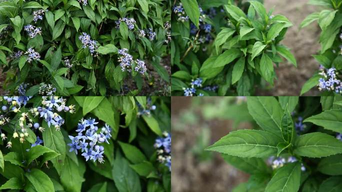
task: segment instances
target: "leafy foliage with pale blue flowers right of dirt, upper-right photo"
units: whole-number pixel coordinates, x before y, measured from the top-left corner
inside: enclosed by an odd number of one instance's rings
[[[320,12],[308,15],[300,24],[304,27],[317,20],[321,33],[320,51],[312,55],[320,64],[317,72],[306,81],[303,94],[317,87],[324,95],[342,94],[342,0],[309,0],[309,4],[323,6]]]

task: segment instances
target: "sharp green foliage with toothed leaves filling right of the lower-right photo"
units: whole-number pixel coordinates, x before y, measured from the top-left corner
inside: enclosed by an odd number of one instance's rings
[[[224,117],[222,112],[227,111],[226,118],[250,121],[253,129],[232,131],[206,148],[250,174],[233,191],[340,190],[342,97],[239,100],[227,108],[215,108],[216,114]]]

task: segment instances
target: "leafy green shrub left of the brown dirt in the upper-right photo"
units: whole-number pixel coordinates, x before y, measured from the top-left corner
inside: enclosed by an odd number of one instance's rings
[[[281,56],[296,66],[280,44],[291,22],[259,1],[180,0],[172,13],[173,95],[251,95]]]

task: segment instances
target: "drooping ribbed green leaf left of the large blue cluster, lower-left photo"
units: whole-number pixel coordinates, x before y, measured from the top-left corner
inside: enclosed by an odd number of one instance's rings
[[[54,168],[60,173],[66,153],[64,137],[60,131],[57,131],[53,126],[49,127],[45,121],[42,122],[41,126],[45,129],[42,132],[44,146],[60,154],[55,159],[51,159]]]

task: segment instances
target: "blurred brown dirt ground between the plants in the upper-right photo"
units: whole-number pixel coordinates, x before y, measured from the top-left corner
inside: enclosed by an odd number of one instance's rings
[[[288,62],[280,63],[275,69],[278,76],[275,86],[270,90],[259,90],[256,92],[257,95],[299,95],[302,85],[318,69],[318,63],[311,55],[320,48],[320,29],[315,23],[299,30],[301,21],[308,14],[318,10],[316,6],[308,5],[307,2],[308,0],[264,0],[267,10],[274,7],[273,14],[283,14],[293,23],[282,43],[291,48],[298,67],[295,68]],[[305,95],[317,94],[318,90],[311,90]]]

